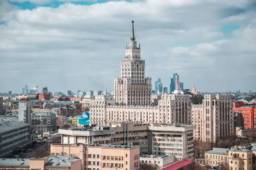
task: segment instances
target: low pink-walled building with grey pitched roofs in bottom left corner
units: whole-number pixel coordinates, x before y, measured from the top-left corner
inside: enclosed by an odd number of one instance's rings
[[[81,170],[81,159],[57,154],[40,159],[0,159],[1,170]]]

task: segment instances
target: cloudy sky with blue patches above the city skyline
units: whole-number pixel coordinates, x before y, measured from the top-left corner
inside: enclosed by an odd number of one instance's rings
[[[0,0],[0,92],[112,91],[132,20],[153,81],[256,91],[255,2]]]

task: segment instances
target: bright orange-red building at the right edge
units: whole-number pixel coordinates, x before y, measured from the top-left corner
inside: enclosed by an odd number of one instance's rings
[[[256,107],[244,106],[244,102],[233,102],[234,112],[241,113],[245,129],[256,129]]]

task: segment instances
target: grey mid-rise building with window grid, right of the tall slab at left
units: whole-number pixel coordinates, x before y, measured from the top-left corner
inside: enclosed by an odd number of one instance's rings
[[[31,113],[31,126],[41,132],[56,129],[56,115],[52,111],[37,111]]]

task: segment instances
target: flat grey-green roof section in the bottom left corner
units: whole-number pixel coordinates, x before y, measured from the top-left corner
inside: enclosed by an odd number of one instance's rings
[[[29,167],[29,159],[1,158],[0,166],[24,166]]]

